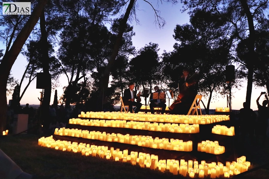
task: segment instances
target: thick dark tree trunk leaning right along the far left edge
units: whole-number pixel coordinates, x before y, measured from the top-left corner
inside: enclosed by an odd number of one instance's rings
[[[10,50],[5,53],[1,64],[0,64],[0,131],[6,129],[7,122],[7,79],[10,74],[10,70],[17,59],[19,53],[22,50],[25,41],[32,32],[34,26],[36,25],[42,10],[47,4],[48,0],[39,1],[39,3],[34,8],[29,20],[26,22],[17,38],[13,42]]]

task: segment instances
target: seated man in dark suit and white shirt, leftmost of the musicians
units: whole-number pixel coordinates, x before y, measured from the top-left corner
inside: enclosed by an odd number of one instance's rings
[[[129,106],[129,111],[132,113],[133,106],[136,106],[135,113],[138,113],[142,103],[140,103],[141,99],[140,97],[137,97],[136,92],[134,91],[135,84],[134,83],[129,83],[129,88],[124,90],[123,93],[123,103],[125,106]],[[141,95],[141,92],[138,93]],[[137,101],[135,101],[135,99]]]

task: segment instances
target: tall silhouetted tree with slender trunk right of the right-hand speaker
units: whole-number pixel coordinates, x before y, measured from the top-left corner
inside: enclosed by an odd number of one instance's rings
[[[247,58],[245,61],[238,61],[244,63],[247,67],[247,94],[246,103],[250,107],[251,92],[253,84],[253,73],[256,60],[255,39],[256,30],[261,28],[262,21],[266,21],[266,9],[268,8],[268,1],[211,1],[211,0],[181,0],[184,3],[184,10],[190,10],[190,14],[195,13],[196,9],[203,9],[211,13],[219,14],[223,20],[226,21],[225,32],[227,36],[231,37],[230,41],[236,44],[238,41],[244,41],[247,47]],[[235,49],[234,49],[235,50]],[[235,58],[236,60],[238,58]],[[240,60],[240,59],[239,59]]]

